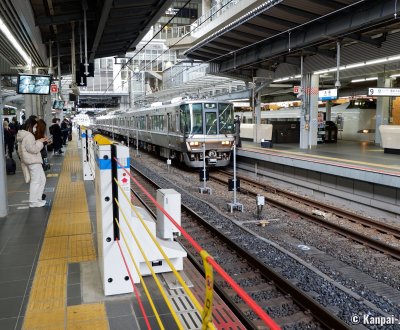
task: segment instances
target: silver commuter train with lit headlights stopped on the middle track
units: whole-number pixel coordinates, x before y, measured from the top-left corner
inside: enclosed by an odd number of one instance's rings
[[[149,108],[99,116],[95,128],[103,134],[129,137],[157,155],[203,167],[227,166],[234,143],[233,104],[212,100],[157,103]]]

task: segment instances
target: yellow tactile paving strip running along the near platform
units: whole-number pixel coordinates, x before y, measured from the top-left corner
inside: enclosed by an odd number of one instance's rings
[[[74,141],[65,153],[23,329],[104,329],[103,303],[67,307],[68,263],[94,260],[81,160]]]

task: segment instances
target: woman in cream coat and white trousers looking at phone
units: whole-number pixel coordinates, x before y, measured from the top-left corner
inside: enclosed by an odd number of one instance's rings
[[[30,187],[29,187],[29,207],[42,207],[46,201],[42,200],[46,176],[42,167],[42,156],[40,150],[47,138],[36,140],[34,133],[37,122],[34,119],[28,119],[25,123],[25,129],[21,129],[17,134],[18,153],[23,162],[29,168]]]

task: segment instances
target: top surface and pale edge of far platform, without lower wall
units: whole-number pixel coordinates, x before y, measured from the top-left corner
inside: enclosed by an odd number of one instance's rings
[[[274,144],[263,148],[260,143],[242,141],[237,149],[240,159],[258,161],[314,171],[332,177],[343,177],[369,184],[400,187],[400,155],[384,153],[372,142],[319,144],[313,149],[300,149],[298,144]]]

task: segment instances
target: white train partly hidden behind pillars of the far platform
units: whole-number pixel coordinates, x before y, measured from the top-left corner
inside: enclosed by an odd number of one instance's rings
[[[347,141],[368,141],[375,138],[376,101],[351,100],[332,106],[331,122],[338,129],[338,138]],[[319,108],[325,113],[325,108]],[[235,112],[242,123],[252,123],[252,112]],[[261,123],[272,124],[274,143],[298,143],[300,141],[300,107],[261,111]],[[368,132],[368,133],[366,133]]]

